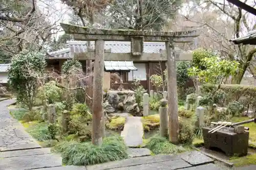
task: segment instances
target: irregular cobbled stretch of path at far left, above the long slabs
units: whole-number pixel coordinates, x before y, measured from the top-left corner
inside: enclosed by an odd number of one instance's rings
[[[41,148],[7,108],[14,99],[0,102],[0,151]]]

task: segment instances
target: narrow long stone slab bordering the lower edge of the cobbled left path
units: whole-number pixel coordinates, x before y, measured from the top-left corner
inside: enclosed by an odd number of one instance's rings
[[[0,152],[0,159],[1,158],[9,158],[9,157],[17,157],[17,156],[50,154],[50,153],[51,153],[51,148],[40,148],[40,149]]]

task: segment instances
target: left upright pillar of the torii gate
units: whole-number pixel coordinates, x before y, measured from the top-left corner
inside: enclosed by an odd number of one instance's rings
[[[104,76],[104,41],[95,41],[95,61],[94,61],[94,78],[93,78],[93,131],[92,143],[95,145],[102,144],[102,132],[105,126],[103,114],[103,76]]]

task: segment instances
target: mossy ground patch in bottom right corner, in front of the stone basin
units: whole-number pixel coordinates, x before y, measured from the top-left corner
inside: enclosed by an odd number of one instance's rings
[[[256,164],[256,154],[248,155],[246,157],[231,157],[230,159],[230,161],[234,163],[234,166]]]

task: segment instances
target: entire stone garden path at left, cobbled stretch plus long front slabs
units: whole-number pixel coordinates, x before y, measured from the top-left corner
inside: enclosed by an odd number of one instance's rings
[[[12,118],[7,108],[15,99],[0,102],[0,169],[1,170],[84,170],[84,166],[61,166],[60,155],[40,145]]]

